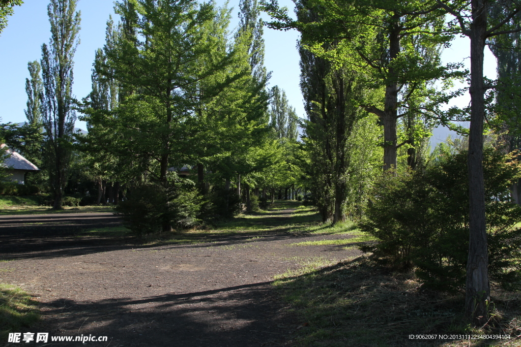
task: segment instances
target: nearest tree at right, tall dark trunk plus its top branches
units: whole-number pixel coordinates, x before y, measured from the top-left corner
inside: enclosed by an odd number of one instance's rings
[[[453,19],[453,26],[470,38],[470,130],[468,137],[469,252],[467,261],[465,311],[478,325],[488,322],[490,287],[483,178],[483,122],[485,92],[483,50],[491,37],[521,31],[516,15],[521,10],[515,1],[451,1],[442,3]],[[490,7],[500,15],[490,18]],[[498,10],[499,9],[499,10]]]

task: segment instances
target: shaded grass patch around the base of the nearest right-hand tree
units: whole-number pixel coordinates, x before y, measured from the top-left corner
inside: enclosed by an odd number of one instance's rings
[[[366,258],[332,263],[310,259],[274,285],[302,322],[294,343],[303,346],[518,346],[519,293],[495,293],[494,318],[470,328],[463,294],[421,291],[413,273],[390,273]],[[410,334],[510,334],[505,340],[410,340]]]

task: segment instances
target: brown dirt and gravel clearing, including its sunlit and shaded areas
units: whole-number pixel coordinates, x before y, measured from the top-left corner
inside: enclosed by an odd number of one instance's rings
[[[42,323],[31,332],[108,337],[89,346],[291,345],[305,322],[278,298],[273,276],[313,257],[358,255],[340,246],[287,247],[345,238],[287,233],[282,226],[293,212],[263,216],[263,223],[281,226],[268,232],[159,247],[77,236],[84,228],[118,226],[110,213],[0,216],[0,259],[9,260],[0,262],[0,281],[42,303]]]

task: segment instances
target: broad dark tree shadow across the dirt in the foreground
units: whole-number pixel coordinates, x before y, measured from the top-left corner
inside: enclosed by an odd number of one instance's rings
[[[297,323],[274,297],[270,283],[139,299],[60,298],[44,307],[43,322],[33,330],[49,336],[107,336],[111,347],[286,345]]]

